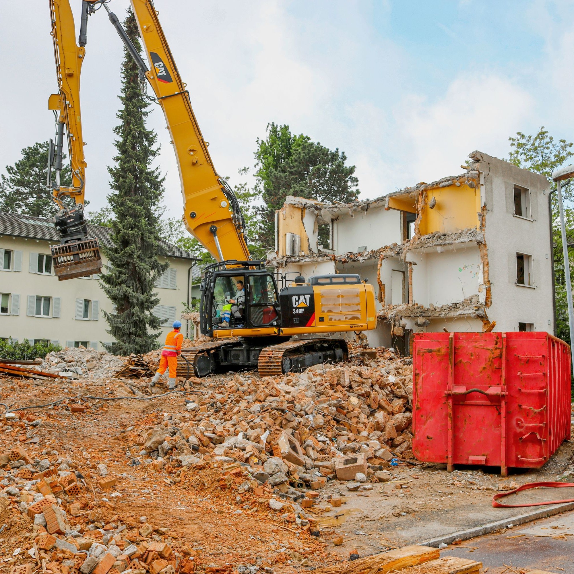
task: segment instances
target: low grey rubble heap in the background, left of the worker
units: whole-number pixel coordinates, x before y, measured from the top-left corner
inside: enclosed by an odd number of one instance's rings
[[[80,346],[52,351],[39,367],[42,371],[65,378],[100,379],[113,377],[124,362],[124,357]]]

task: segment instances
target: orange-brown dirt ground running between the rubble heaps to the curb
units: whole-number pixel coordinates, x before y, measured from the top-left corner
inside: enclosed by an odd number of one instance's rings
[[[193,390],[201,392],[211,384],[205,380]],[[13,408],[79,395],[114,397],[124,391],[125,386],[116,379],[58,379],[36,384],[0,379],[0,402]],[[311,519],[301,524],[289,505],[274,511],[267,504],[269,497],[241,491],[241,476],[226,482],[223,463],[212,461],[203,468],[174,471],[169,464],[153,470],[153,464],[142,461],[137,456],[141,454],[138,429],[185,415],[184,398],[192,397],[148,398],[92,400],[92,407],[83,413],[71,412],[65,402],[20,411],[28,422],[0,423],[0,452],[19,444],[39,459],[48,457],[55,463],[72,460],[89,502],[83,514],[68,517],[79,531],[90,523],[104,530],[122,524],[137,541],[138,528],[149,523],[154,540],[185,548],[200,571],[251,572],[246,568],[252,565],[266,572],[300,572],[338,563],[352,553],[366,556],[422,542],[511,515],[506,509],[492,508],[494,491],[556,480],[574,469],[571,443],[565,443],[545,468],[506,479],[495,474],[497,469],[464,468],[449,474],[437,465],[400,462],[389,468],[389,482],[366,482],[355,492],[350,492],[345,482],[329,480],[317,491],[316,505],[305,509]],[[40,424],[32,426],[30,419],[40,420]],[[117,479],[111,492],[97,487],[102,464],[108,475]],[[343,497],[342,506],[331,507],[333,495]],[[318,534],[315,528],[320,536],[312,535]],[[21,553],[32,546],[37,533],[38,527],[25,510],[13,507],[0,515],[0,572],[22,563]],[[342,544],[337,540],[340,537]],[[127,540],[131,538],[127,536]]]

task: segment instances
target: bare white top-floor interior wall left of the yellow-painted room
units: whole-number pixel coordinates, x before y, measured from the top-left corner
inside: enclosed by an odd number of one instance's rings
[[[364,245],[370,251],[401,243],[401,212],[397,210],[376,207],[354,211],[352,215],[340,215],[334,224],[336,254],[356,253]]]

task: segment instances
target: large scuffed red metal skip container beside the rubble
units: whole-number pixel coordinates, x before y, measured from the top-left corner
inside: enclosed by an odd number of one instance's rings
[[[570,347],[544,332],[416,333],[418,460],[540,468],[570,438]]]

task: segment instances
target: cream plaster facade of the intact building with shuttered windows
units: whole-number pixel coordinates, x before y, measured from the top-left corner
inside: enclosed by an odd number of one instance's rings
[[[113,341],[113,338],[106,331],[108,324],[102,314],[102,311],[111,313],[112,304],[104,294],[98,280],[76,278],[58,281],[55,275],[30,273],[30,252],[50,254],[48,241],[0,236],[0,248],[22,251],[22,270],[20,272],[0,270],[0,293],[20,295],[20,313],[18,315],[0,315],[0,337],[12,337],[19,341],[25,338],[29,340],[57,340],[61,346],[64,346],[68,340]],[[104,257],[102,259],[105,265],[106,259]],[[175,307],[176,318],[179,318],[183,312],[181,302],[187,300],[187,270],[192,262],[188,259],[172,257],[168,260],[170,267],[177,269],[176,289],[156,288],[156,290],[160,297],[160,305]],[[28,295],[60,297],[60,317],[26,315]],[[76,298],[99,301],[98,319],[75,319]],[[170,325],[162,327],[160,338],[165,337],[170,329]],[[99,346],[99,348],[102,347]]]

